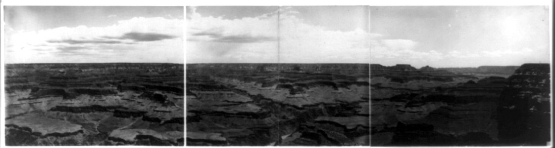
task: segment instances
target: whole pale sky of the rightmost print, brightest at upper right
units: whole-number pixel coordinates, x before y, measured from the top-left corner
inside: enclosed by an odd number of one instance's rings
[[[549,63],[544,6],[370,7],[370,61],[477,67]]]

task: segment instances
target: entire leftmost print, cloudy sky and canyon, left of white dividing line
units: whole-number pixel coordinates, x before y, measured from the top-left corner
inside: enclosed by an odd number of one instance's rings
[[[6,145],[184,145],[183,7],[6,6]]]

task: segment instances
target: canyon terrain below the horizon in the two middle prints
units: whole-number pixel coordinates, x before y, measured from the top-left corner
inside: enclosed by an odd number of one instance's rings
[[[186,143],[369,145],[365,64],[188,64]]]

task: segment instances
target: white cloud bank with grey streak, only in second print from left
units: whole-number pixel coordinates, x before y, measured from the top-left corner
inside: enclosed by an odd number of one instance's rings
[[[278,17],[224,19],[187,7],[187,62],[277,62]]]

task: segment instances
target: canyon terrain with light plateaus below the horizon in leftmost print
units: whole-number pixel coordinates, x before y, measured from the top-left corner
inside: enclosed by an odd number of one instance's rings
[[[6,144],[184,145],[179,64],[8,64]]]

